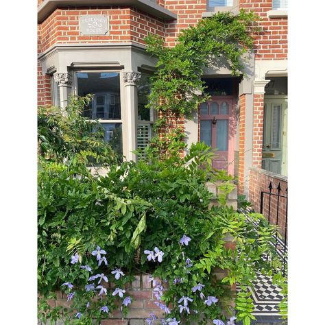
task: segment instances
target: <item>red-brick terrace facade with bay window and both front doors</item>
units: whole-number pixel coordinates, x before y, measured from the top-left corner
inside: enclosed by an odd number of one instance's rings
[[[206,69],[211,99],[184,130],[188,144],[219,149],[213,164],[237,176],[239,193],[257,209],[267,182],[287,176],[287,0],[38,0],[38,104],[64,107],[71,94],[95,94],[85,116],[135,160],[156,118],[145,108],[156,60],[143,38],[158,34],[173,47],[181,29],[241,8],[256,12],[263,28],[246,75]]]

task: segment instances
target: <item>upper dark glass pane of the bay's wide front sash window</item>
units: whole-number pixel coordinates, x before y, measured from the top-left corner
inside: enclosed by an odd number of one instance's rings
[[[91,119],[121,119],[120,82],[117,72],[78,72],[78,95],[95,95],[84,116]]]

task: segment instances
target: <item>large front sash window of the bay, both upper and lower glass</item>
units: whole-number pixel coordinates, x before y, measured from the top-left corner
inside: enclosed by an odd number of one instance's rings
[[[122,154],[120,76],[117,72],[77,72],[77,95],[93,94],[84,108],[84,117],[98,119],[105,130],[104,138]]]

